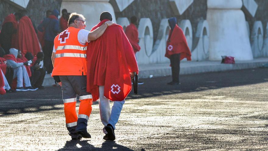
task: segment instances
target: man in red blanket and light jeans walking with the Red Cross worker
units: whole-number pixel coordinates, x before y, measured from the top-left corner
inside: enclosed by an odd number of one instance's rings
[[[91,31],[112,20],[109,12],[103,12]],[[131,79],[138,74],[138,65],[132,46],[123,28],[114,24],[104,34],[87,45],[87,85],[93,101],[99,100],[101,122],[105,140],[115,140],[115,124],[118,122],[125,98],[131,91]],[[109,100],[113,101],[110,110]]]

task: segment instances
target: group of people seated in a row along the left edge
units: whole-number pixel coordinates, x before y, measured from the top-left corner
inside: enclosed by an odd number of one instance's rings
[[[43,52],[38,52],[35,57],[30,52],[23,56],[20,50],[11,48],[5,55],[0,47],[0,94],[44,89],[46,69],[43,59]]]

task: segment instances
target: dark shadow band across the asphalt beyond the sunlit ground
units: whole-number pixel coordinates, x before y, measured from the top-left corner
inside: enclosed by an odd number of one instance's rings
[[[170,86],[171,76],[140,79],[138,95],[133,90],[127,99],[148,98],[175,93],[257,84],[268,81],[268,69],[233,70],[180,76],[181,85]],[[62,109],[62,91],[59,86],[33,92],[16,92],[0,96],[0,116]],[[78,101],[79,102],[79,101]],[[97,104],[94,102],[93,104]]]

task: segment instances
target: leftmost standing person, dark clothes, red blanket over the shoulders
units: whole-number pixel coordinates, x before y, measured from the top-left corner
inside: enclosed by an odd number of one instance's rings
[[[9,54],[10,48],[17,48],[17,30],[18,30],[18,20],[22,17],[22,14],[16,12],[14,14],[9,14],[5,17],[2,24],[2,30],[0,33],[0,44],[5,50],[5,54]]]

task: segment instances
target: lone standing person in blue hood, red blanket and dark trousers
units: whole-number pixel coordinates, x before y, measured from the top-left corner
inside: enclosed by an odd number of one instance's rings
[[[177,25],[175,17],[168,19],[169,31],[165,57],[170,59],[172,81],[168,85],[179,85],[180,60],[191,60],[191,51],[187,45],[182,29]]]

